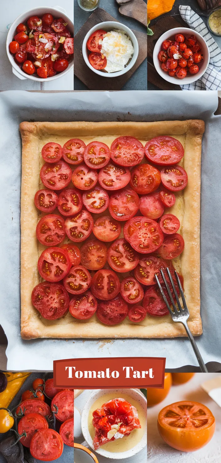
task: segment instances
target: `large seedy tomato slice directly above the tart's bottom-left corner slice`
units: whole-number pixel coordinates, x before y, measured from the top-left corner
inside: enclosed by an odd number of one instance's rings
[[[60,248],[45,249],[38,259],[37,268],[46,282],[60,282],[71,267],[68,253]]]

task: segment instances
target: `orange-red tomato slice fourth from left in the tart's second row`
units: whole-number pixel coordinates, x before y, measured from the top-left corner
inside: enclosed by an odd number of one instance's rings
[[[139,164],[131,170],[130,185],[138,194],[155,191],[160,185],[160,171],[150,164]]]

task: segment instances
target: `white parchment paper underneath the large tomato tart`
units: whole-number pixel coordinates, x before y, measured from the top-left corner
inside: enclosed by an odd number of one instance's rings
[[[204,362],[221,369],[221,116],[217,92],[74,92],[0,94],[0,324],[10,370],[49,371],[53,360],[78,357],[166,357],[166,368],[196,365],[187,338],[49,340],[20,338],[21,121],[153,121],[204,119],[201,206],[201,314],[196,339]],[[217,371],[216,370],[216,371]]]

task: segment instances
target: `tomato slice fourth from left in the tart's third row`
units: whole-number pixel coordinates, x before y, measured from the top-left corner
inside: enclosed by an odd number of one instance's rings
[[[139,209],[139,196],[129,189],[113,193],[110,196],[108,209],[113,219],[121,222],[129,220]]]

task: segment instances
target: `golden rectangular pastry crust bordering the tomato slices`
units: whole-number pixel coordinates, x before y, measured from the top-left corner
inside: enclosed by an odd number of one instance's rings
[[[21,182],[21,336],[31,338],[174,338],[186,336],[181,324],[170,316],[147,316],[140,324],[129,320],[114,326],[103,325],[96,315],[89,320],[74,319],[69,313],[61,319],[43,319],[31,304],[32,289],[42,281],[37,261],[44,247],[36,238],[41,218],[34,204],[36,191],[43,188],[39,172],[43,165],[41,150],[49,141],[63,145],[70,138],[86,144],[100,140],[110,144],[123,135],[138,138],[143,144],[158,135],[178,138],[184,146],[180,164],[188,175],[187,187],[176,194],[170,212],[178,216],[184,237],[184,251],[173,264],[184,276],[184,294],[190,311],[188,325],[193,335],[202,334],[200,317],[200,182],[203,120],[160,122],[22,122]]]

